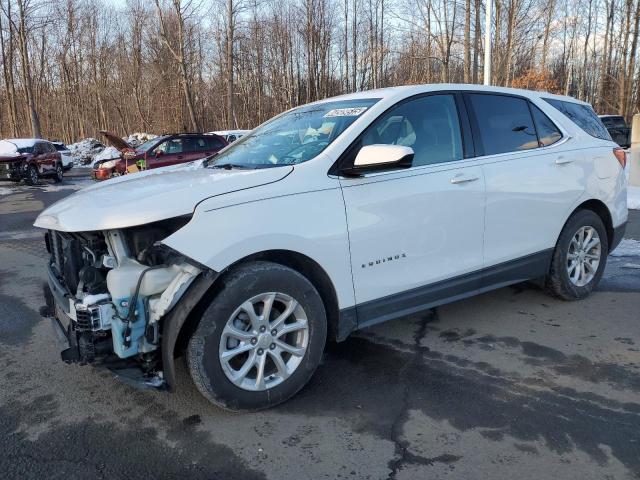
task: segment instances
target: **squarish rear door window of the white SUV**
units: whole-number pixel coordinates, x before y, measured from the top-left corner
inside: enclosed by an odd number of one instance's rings
[[[527,101],[505,95],[469,95],[485,155],[538,147]]]

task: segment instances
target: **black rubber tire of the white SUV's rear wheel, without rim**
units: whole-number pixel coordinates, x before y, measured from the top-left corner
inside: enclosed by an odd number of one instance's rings
[[[574,284],[569,278],[567,271],[567,262],[569,254],[569,245],[574,235],[582,227],[592,227],[598,233],[600,239],[600,260],[596,273],[593,278],[583,286]],[[554,296],[563,300],[579,300],[585,298],[593,292],[598,285],[604,268],[607,263],[607,255],[609,254],[609,241],[607,230],[602,223],[600,217],[591,210],[579,210],[574,213],[565,224],[558,242],[556,243],[551,260],[549,273],[545,278],[545,286],[547,290]]]

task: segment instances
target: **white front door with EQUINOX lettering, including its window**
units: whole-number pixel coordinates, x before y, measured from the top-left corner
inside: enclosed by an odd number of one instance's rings
[[[410,169],[341,179],[360,326],[479,286],[484,179],[464,158],[460,125],[454,95],[428,95],[393,107],[359,140],[415,153]]]

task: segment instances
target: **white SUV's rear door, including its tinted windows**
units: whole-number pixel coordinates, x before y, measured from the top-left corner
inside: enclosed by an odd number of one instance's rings
[[[465,101],[486,182],[485,266],[513,261],[513,269],[525,269],[516,276],[537,274],[529,267],[543,274],[568,209],[584,190],[582,155],[525,98],[469,93]]]

